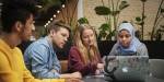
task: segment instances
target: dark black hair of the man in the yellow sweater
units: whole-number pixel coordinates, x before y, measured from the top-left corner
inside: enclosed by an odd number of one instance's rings
[[[36,13],[34,0],[3,0],[2,1],[2,31],[10,33],[15,22],[26,23],[31,14]]]

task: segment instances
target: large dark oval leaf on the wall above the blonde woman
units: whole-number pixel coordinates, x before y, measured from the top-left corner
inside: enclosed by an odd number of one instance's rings
[[[96,14],[98,14],[98,15],[108,15],[108,14],[110,14],[110,9],[107,8],[107,7],[101,5],[101,7],[96,7],[94,10],[95,10]]]

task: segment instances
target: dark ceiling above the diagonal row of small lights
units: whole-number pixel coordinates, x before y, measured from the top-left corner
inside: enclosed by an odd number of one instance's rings
[[[37,5],[39,5],[38,13],[35,15],[35,25],[45,25],[47,21],[57,10],[61,8],[61,5],[66,2],[66,0],[35,0]],[[0,0],[0,11],[2,5],[2,0]]]

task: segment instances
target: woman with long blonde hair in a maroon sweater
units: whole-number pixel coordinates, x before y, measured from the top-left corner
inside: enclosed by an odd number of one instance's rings
[[[87,75],[98,74],[103,67],[94,28],[89,24],[79,25],[69,52],[68,70]]]

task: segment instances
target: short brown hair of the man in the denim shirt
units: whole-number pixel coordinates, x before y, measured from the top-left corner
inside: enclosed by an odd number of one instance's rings
[[[66,24],[65,22],[62,22],[61,20],[55,20],[52,21],[47,27],[47,33],[49,34],[51,30],[55,30],[56,32],[58,32],[60,28],[67,28],[69,32],[71,32],[70,30],[70,25]]]

